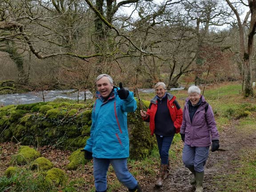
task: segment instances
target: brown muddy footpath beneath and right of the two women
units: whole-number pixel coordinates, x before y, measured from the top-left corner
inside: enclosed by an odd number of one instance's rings
[[[216,184],[215,176],[232,174],[237,165],[233,162],[241,156],[240,150],[248,147],[256,148],[256,132],[247,133],[246,130],[237,130],[239,120],[232,121],[228,127],[220,133],[220,148],[223,151],[209,152],[205,166],[204,192],[222,191]],[[156,179],[149,179],[143,183],[144,192],[194,192],[195,186],[189,184],[192,177],[182,162],[171,168],[170,176],[165,180],[163,187],[156,188]],[[225,186],[225,183],[222,184]]]

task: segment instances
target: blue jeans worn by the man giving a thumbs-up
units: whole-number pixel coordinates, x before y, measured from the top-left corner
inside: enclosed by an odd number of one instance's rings
[[[128,171],[127,158],[122,159],[99,159],[93,157],[93,176],[96,191],[107,190],[107,172],[109,164],[112,164],[117,179],[128,189],[136,188],[138,182]]]

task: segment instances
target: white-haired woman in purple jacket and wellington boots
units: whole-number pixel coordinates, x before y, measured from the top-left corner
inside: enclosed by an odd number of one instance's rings
[[[212,144],[212,152],[219,148],[219,132],[212,107],[200,92],[197,86],[188,88],[180,128],[180,136],[184,142],[182,160],[194,175],[190,184],[196,184],[195,192],[203,192],[204,165],[210,145]]]

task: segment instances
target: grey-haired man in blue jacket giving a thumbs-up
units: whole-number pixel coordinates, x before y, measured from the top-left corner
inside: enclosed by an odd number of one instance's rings
[[[137,108],[133,92],[123,84],[113,86],[111,76],[101,74],[96,78],[96,101],[92,109],[90,138],[82,151],[86,159],[93,158],[93,176],[96,192],[107,191],[107,172],[112,164],[117,179],[129,192],[142,192],[138,181],[127,168],[129,136],[127,113]]]

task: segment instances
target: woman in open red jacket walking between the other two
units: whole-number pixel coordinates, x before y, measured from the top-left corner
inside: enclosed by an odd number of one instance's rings
[[[162,187],[169,174],[169,149],[175,133],[180,132],[182,109],[176,97],[166,92],[166,85],[159,82],[155,85],[156,96],[150,100],[148,111],[140,111],[144,121],[149,122],[151,135],[155,133],[161,158],[160,176],[156,186]]]

